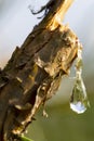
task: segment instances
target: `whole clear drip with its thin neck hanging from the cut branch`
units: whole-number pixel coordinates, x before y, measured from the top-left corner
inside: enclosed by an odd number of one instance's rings
[[[82,80],[82,47],[79,43],[76,64],[76,81],[70,99],[70,108],[78,114],[84,113],[90,106],[84,82]]]

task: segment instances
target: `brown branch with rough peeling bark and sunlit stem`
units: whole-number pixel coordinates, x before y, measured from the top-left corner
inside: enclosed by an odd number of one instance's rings
[[[0,141],[14,141],[25,131],[69,74],[79,41],[62,20],[72,1],[50,0],[42,7],[44,18],[0,70]]]

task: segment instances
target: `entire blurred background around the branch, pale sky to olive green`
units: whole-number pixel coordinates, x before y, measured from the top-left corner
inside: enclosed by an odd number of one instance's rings
[[[38,10],[48,0],[0,0],[0,67],[6,64],[16,46],[21,46],[32,27],[39,23],[28,5]],[[43,14],[43,13],[42,13]],[[46,103],[48,118],[42,107],[37,120],[28,127],[27,137],[33,141],[93,141],[94,140],[94,0],[75,0],[64,23],[78,35],[83,44],[83,79],[91,107],[78,115],[69,107],[75,70],[64,77],[57,94]]]

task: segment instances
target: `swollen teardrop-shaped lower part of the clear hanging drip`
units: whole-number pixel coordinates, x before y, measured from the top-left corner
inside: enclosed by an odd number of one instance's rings
[[[84,113],[90,106],[82,78],[77,78],[70,99],[70,108],[78,114]]]

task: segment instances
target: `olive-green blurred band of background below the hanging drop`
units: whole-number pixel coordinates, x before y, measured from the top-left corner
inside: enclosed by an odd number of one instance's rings
[[[35,141],[93,141],[94,107],[82,115],[71,112],[69,104],[57,104],[48,107],[49,118],[38,113],[37,120],[29,127],[28,137]]]

